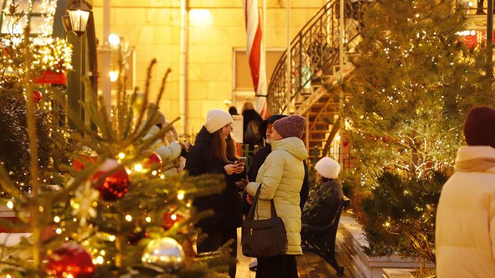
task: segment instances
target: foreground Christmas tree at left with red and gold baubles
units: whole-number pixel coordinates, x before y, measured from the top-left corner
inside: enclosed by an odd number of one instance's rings
[[[63,87],[43,86],[43,102],[39,100],[36,76],[52,68],[38,68],[36,61],[57,60],[54,55],[59,52],[45,50],[39,56],[36,40],[28,34],[26,27],[13,44],[5,44],[10,50],[2,56],[15,74],[4,71],[0,76],[0,97],[15,102],[14,108],[1,109],[18,123],[0,138],[9,141],[27,134],[14,143],[29,151],[19,152],[20,157],[17,153],[1,157],[3,202],[16,221],[0,218],[0,226],[30,236],[14,244],[9,236],[5,238],[0,245],[0,273],[72,278],[221,276],[235,258],[228,258],[228,248],[223,247],[195,253],[195,240],[201,238],[196,239],[193,224],[211,212],[195,213],[192,200],[220,192],[223,177],[169,174],[177,156],[161,157],[153,150],[177,119],[151,136],[148,132],[159,118],[157,106],[148,102],[159,104],[170,70],[153,100],[148,88],[156,61],[148,68],[144,93],[129,91],[123,66],[129,52],[120,48],[115,106],[110,109],[101,97],[87,95],[86,102],[80,102],[91,119],[85,122],[67,106],[70,92]],[[65,69],[68,58],[62,59]],[[65,115],[77,131],[63,128]],[[65,143],[74,151],[60,148]]]

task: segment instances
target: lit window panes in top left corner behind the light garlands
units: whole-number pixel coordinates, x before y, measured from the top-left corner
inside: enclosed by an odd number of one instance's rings
[[[16,16],[5,15],[12,1],[18,5]],[[32,4],[30,4],[32,2]],[[30,24],[31,35],[52,34],[53,14],[56,0],[0,0],[1,34],[21,34],[27,23]]]

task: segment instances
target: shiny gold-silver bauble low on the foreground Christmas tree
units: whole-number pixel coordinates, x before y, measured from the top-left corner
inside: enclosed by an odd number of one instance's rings
[[[157,238],[148,243],[141,257],[142,262],[154,264],[167,270],[176,270],[184,265],[184,250],[173,238]]]

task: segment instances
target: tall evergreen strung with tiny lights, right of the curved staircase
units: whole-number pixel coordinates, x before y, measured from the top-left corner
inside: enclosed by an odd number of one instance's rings
[[[468,49],[454,1],[376,1],[366,10],[345,117],[369,253],[434,261],[434,208],[474,104],[494,100],[483,49]],[[417,192],[419,191],[419,192]],[[380,204],[380,205],[376,205]]]

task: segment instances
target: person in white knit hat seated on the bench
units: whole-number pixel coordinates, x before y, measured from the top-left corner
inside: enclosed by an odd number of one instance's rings
[[[323,157],[316,163],[315,170],[318,183],[311,190],[303,209],[303,226],[330,223],[342,202],[342,183],[337,179],[339,163],[330,157]]]

